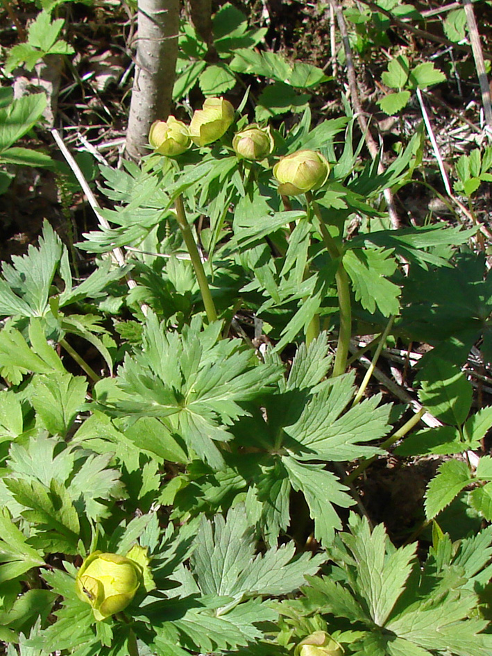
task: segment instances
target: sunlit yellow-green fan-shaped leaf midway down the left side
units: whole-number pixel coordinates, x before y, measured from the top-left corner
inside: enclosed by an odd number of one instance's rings
[[[71,373],[35,376],[30,400],[51,435],[66,435],[85,401],[87,380]]]

